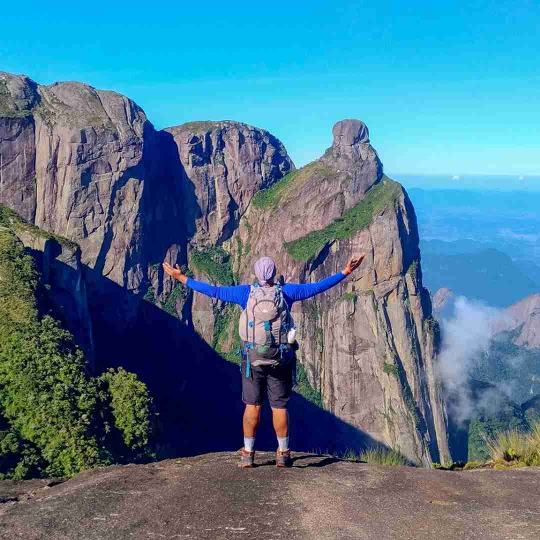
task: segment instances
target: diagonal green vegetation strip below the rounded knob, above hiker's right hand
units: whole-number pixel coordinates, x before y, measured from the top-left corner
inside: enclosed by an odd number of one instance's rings
[[[350,238],[368,227],[377,212],[394,203],[401,193],[397,182],[384,177],[370,188],[366,196],[355,206],[347,210],[341,218],[334,220],[319,231],[312,231],[305,236],[285,242],[285,249],[297,261],[306,261],[314,257],[327,242]]]

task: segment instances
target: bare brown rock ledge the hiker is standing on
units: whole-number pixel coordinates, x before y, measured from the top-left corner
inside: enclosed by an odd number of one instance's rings
[[[0,482],[0,538],[490,540],[540,537],[540,471],[380,467],[298,454],[255,469],[231,453]]]

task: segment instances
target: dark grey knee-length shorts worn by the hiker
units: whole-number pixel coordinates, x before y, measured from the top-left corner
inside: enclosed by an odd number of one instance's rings
[[[293,390],[293,361],[281,366],[250,366],[246,377],[246,362],[242,359],[242,401],[246,405],[262,405],[268,395],[273,409],[286,409]]]

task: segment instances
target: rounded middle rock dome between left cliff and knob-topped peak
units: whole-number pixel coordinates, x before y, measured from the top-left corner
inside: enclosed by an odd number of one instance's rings
[[[283,144],[239,122],[190,122],[165,130],[178,147],[188,235],[222,244],[238,228],[253,195],[294,169]]]

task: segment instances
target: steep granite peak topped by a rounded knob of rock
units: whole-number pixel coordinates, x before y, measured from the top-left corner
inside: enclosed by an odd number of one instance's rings
[[[438,325],[422,285],[414,208],[403,188],[383,176],[363,123],[344,120],[333,133],[332,147],[293,173],[278,201],[249,208],[238,230],[244,245],[252,242],[243,281],[252,280],[261,255],[275,259],[285,281],[308,282],[366,252],[350,278],[293,307],[302,363],[325,407],[341,420],[417,463],[446,461],[446,408],[435,374]],[[330,233],[317,247],[313,231],[340,229],[335,220],[347,224],[347,211],[365,225],[345,238],[335,238],[343,230]]]

